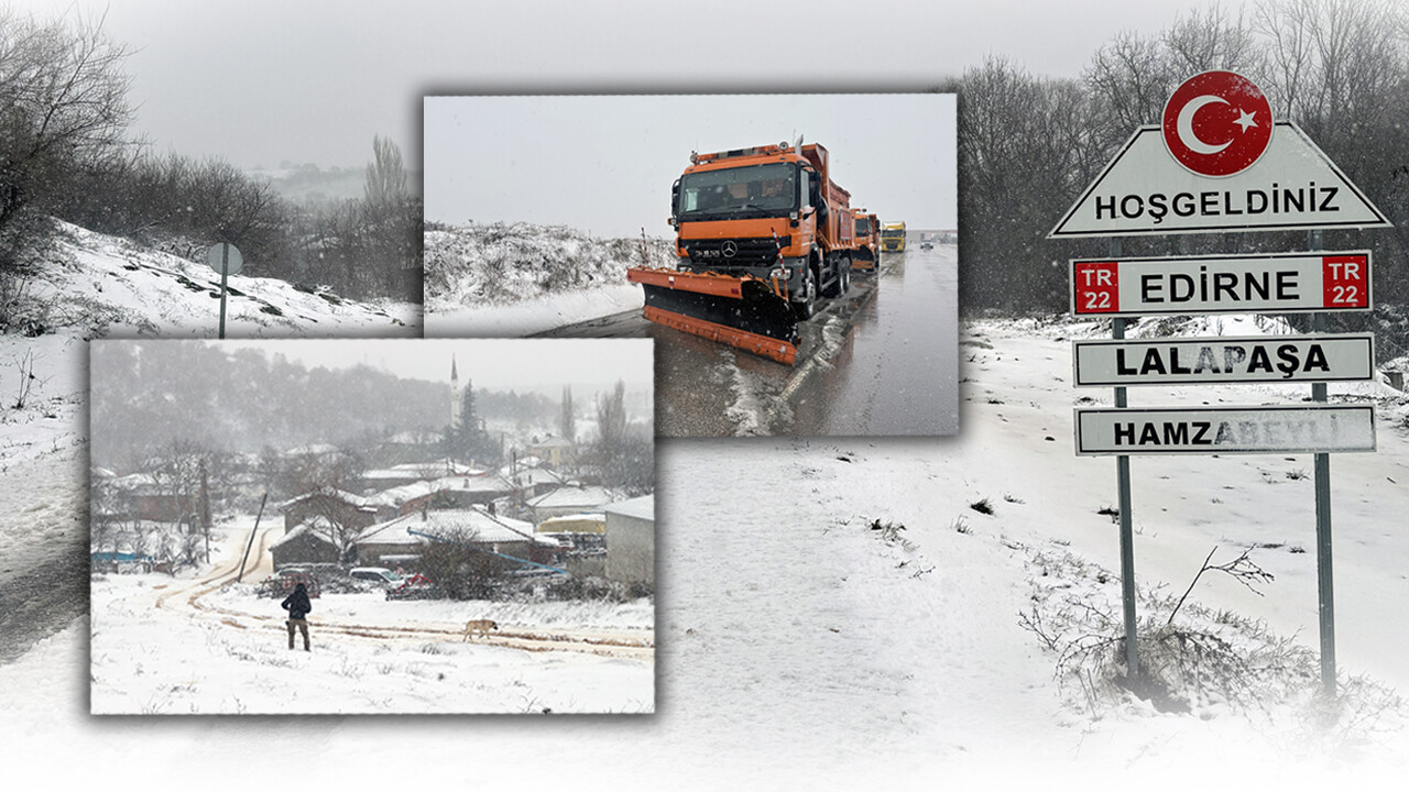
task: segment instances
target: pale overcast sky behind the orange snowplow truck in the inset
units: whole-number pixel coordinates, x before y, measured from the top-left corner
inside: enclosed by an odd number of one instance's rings
[[[852,207],[958,227],[952,94],[431,97],[424,118],[430,220],[665,237],[671,183],[692,151],[802,134],[827,148]]]

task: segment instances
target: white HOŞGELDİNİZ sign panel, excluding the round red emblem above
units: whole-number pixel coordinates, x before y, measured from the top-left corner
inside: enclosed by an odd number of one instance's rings
[[[1389,227],[1385,216],[1291,121],[1278,121],[1251,166],[1209,178],[1141,127],[1048,238]]]

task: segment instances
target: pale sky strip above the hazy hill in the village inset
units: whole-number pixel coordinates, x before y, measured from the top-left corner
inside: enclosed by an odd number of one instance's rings
[[[449,383],[451,357],[476,389],[535,390],[557,399],[565,385],[606,390],[617,379],[627,390],[650,392],[654,354],[650,338],[464,338],[464,340],[278,340],[218,341],[221,348],[256,348],[307,368],[368,365],[404,379]]]

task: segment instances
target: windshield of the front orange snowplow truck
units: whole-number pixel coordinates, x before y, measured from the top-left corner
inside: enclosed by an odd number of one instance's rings
[[[688,173],[681,179],[679,202],[676,214],[686,220],[788,213],[797,207],[797,166],[771,162]]]

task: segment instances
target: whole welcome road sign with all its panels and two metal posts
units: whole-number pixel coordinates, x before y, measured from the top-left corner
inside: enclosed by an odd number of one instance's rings
[[[1323,228],[1392,224],[1310,138],[1272,121],[1271,103],[1233,72],[1185,80],[1162,123],[1126,141],[1048,240],[1106,237],[1107,259],[1071,262],[1074,316],[1112,317],[1112,341],[1078,341],[1078,386],[1115,386],[1113,410],[1075,410],[1076,452],[1116,455],[1127,665],[1134,654],[1131,454],[1309,452],[1316,466],[1322,683],[1336,692],[1330,452],[1374,451],[1374,409],[1327,403],[1326,382],[1374,376],[1368,334],[1327,335],[1327,311],[1371,309],[1370,252],[1322,252]],[[1305,228],[1308,254],[1123,259],[1123,235]],[[1310,313],[1313,335],[1126,341],[1126,317]],[[1140,409],[1129,385],[1312,382],[1313,406]]]

